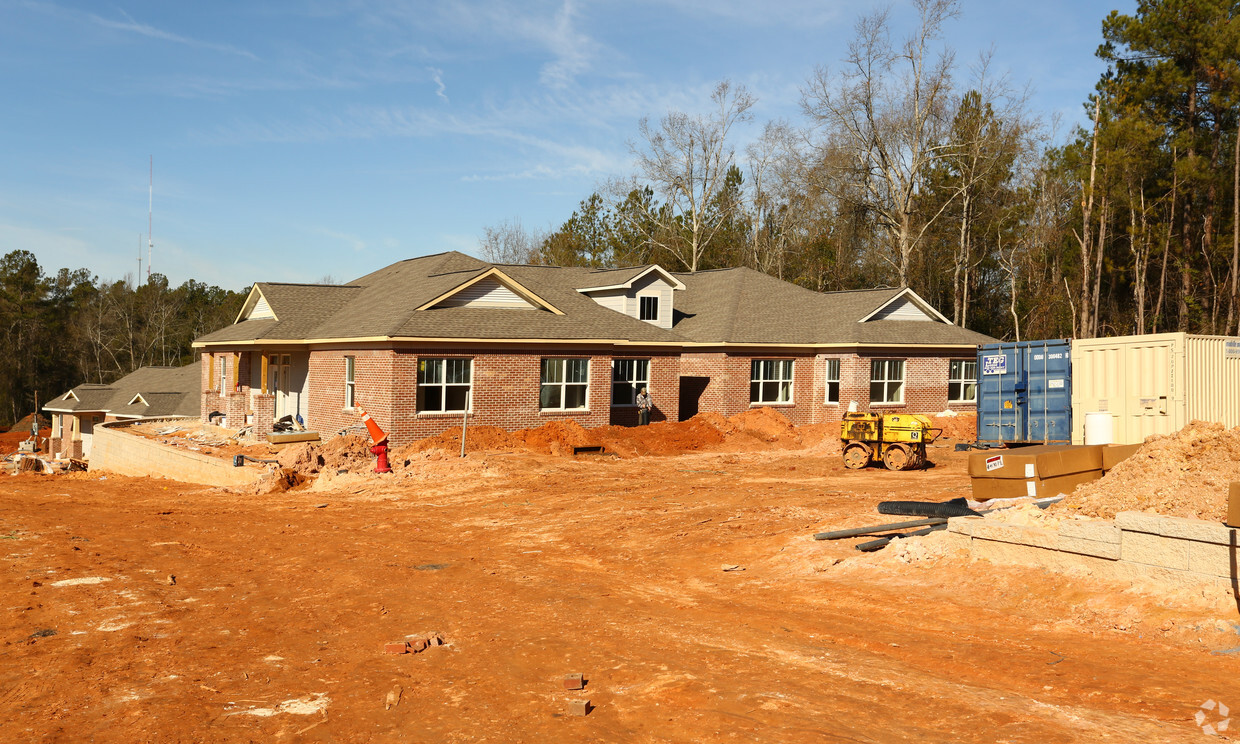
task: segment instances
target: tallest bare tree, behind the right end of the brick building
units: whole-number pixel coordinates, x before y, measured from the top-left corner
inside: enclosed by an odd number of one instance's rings
[[[934,43],[956,16],[957,0],[914,0],[919,24],[899,46],[890,40],[889,11],[857,21],[843,71],[818,68],[802,91],[802,108],[826,131],[826,148],[843,150],[852,180],[861,185],[858,206],[874,215],[890,239],[885,257],[901,285],[921,238],[942,215],[919,215],[928,169],[945,157],[942,133],[951,120],[954,55]],[[851,191],[837,198],[853,198]]]

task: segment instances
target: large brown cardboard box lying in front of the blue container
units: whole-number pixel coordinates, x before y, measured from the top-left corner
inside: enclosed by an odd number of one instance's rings
[[[973,498],[1044,498],[1102,477],[1102,445],[1049,444],[968,456]]]

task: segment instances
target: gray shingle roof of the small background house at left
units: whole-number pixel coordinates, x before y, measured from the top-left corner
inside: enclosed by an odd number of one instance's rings
[[[159,418],[198,415],[202,397],[202,363],[185,367],[141,367],[110,384],[83,383],[48,401],[43,410],[104,412],[113,415]],[[146,404],[134,401],[141,396]],[[130,403],[134,401],[134,403]]]

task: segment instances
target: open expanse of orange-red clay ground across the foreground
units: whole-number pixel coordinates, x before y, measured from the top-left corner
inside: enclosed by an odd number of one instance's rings
[[[1200,706],[1240,706],[1230,598],[815,541],[888,520],[882,500],[967,495],[966,455],[851,471],[818,451],[830,440],[751,439],[673,456],[439,449],[402,475],[262,496],[0,479],[0,730],[1205,742]],[[584,689],[564,689],[572,673]]]

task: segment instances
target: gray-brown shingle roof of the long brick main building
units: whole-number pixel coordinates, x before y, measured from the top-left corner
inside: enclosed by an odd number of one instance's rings
[[[497,269],[562,311],[418,308]],[[858,322],[898,289],[816,293],[751,269],[675,277],[672,330],[616,312],[578,291],[622,284],[650,267],[589,269],[491,264],[458,252],[410,258],[347,285],[258,284],[278,320],[244,320],[200,343],[314,339],[479,339],[696,343],[925,343],[993,341],[942,322]]]

